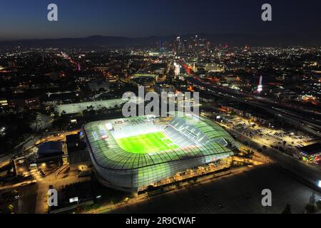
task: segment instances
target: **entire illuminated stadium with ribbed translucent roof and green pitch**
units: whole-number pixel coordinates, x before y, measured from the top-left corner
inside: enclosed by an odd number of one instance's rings
[[[126,192],[202,165],[229,167],[238,147],[212,120],[183,114],[101,120],[84,125],[83,133],[98,180]]]

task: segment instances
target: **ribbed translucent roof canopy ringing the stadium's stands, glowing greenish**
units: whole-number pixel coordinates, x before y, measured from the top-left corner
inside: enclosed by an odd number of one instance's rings
[[[232,150],[223,146],[222,143],[219,143],[220,139],[237,145],[234,139],[212,120],[208,120],[207,118],[195,118],[187,115],[182,118],[188,122],[188,124],[194,125],[205,133],[205,135],[211,139],[210,142],[183,148],[172,148],[159,152],[132,153],[123,150],[118,145],[115,138],[113,138],[110,129],[108,129],[108,125],[115,125],[122,122],[126,125],[146,123],[148,118],[148,116],[141,116],[87,123],[83,127],[83,130],[86,133],[96,164],[108,170],[133,170],[165,162],[188,160],[195,157],[208,156],[209,158],[213,158],[214,155],[215,158],[219,160],[220,158],[233,155]],[[101,134],[103,134],[103,138],[101,137]]]

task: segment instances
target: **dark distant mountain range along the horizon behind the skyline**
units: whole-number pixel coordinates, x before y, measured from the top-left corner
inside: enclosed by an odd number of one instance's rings
[[[206,38],[214,46],[219,44],[229,46],[289,46],[289,45],[321,45],[321,32],[314,35],[302,34],[280,36],[258,36],[245,33],[205,34],[198,33],[200,38]],[[158,42],[172,42],[178,35],[149,36],[142,38],[128,38],[121,36],[88,36],[85,38],[55,38],[55,39],[25,39],[17,41],[0,41],[0,47],[24,46],[39,48],[92,48],[92,47],[128,47],[128,46],[156,46]],[[189,39],[195,34],[180,36],[182,40]]]

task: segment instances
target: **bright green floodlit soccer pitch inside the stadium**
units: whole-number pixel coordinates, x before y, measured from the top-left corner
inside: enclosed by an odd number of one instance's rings
[[[162,132],[118,138],[116,142],[123,150],[136,154],[146,154],[178,148],[178,145],[172,142],[172,140]]]

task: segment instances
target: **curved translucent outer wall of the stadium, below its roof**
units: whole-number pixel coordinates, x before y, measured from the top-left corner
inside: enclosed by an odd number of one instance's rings
[[[100,160],[101,158],[97,157],[97,155],[113,155],[116,151],[113,151],[113,148],[110,147],[103,149],[103,151],[101,151],[101,148],[97,147],[93,150],[91,141],[88,138],[90,129],[87,133],[86,126],[83,126],[82,130],[88,144],[89,154],[96,169],[98,180],[107,187],[112,187],[116,190],[125,192],[139,192],[145,190],[149,185],[165,180],[168,177],[173,177],[178,172],[185,172],[190,168],[207,165],[212,162],[224,162],[225,158],[233,155],[231,150],[224,149],[221,146],[218,147],[220,150],[217,150],[216,152],[214,150],[213,152],[210,152],[211,150],[209,150],[206,153],[198,147],[193,147],[193,149],[188,149],[193,150],[192,154],[188,154],[187,152],[182,153],[182,151],[180,151],[180,154],[175,157],[175,159],[170,158],[170,160],[165,160],[164,162],[153,162],[153,164],[149,163],[149,165],[137,166],[135,164],[139,163],[140,159],[145,159],[143,156],[146,155],[130,155],[132,156],[131,160],[133,160],[133,165],[130,167],[119,165],[111,166],[102,163]],[[215,146],[218,146],[218,144]],[[173,152],[173,155],[175,155],[175,153],[176,152]],[[166,152],[161,152],[160,155],[156,153],[155,155],[148,156],[166,157],[169,155],[166,155]]]

